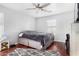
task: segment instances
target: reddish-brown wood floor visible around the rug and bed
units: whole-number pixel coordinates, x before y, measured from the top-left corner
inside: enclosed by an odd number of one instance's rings
[[[14,51],[16,48],[30,48],[30,47],[18,44],[16,47],[9,48],[5,51],[1,51],[0,56],[6,56],[8,53]],[[50,47],[47,48],[47,50],[58,51],[59,53],[61,53],[62,56],[68,56],[65,50],[65,44],[63,42],[54,42]]]

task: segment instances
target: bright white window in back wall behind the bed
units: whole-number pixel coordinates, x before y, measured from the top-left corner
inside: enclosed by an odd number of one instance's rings
[[[56,34],[56,20],[47,20],[48,33]]]

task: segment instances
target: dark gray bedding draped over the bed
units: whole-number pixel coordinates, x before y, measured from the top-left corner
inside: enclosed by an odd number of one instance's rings
[[[30,40],[38,41],[43,46],[42,49],[46,49],[54,41],[54,35],[50,33],[36,32],[36,31],[23,31],[22,36],[19,38],[28,38]]]

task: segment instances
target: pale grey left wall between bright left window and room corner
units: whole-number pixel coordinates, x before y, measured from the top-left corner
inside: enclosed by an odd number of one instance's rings
[[[0,5],[0,12],[4,13],[4,31],[10,44],[17,43],[18,33],[23,30],[35,30],[35,19]]]

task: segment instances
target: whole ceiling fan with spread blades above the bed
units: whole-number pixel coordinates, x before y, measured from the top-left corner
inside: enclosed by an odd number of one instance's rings
[[[41,11],[44,12],[51,12],[49,10],[44,9],[45,7],[48,7],[50,5],[50,3],[32,3],[32,5],[34,6],[34,8],[27,8],[26,10],[35,10],[35,9],[39,9]]]

